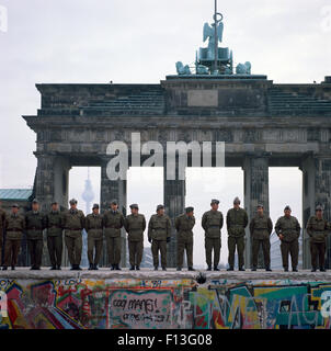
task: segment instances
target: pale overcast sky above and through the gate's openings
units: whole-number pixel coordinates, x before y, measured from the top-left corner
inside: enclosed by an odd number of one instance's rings
[[[235,64],[249,60],[253,73],[275,82],[320,82],[331,75],[329,0],[218,3],[225,23],[222,45],[233,50]],[[36,114],[35,83],[157,83],[175,73],[175,61],[194,61],[213,7],[213,0],[0,0],[0,188],[33,184],[36,138],[21,115]],[[224,211],[235,195],[242,195],[242,171],[227,172]],[[71,173],[70,193],[77,193],[87,170]],[[189,172],[186,202],[201,215],[214,196],[202,193],[198,181],[190,177]],[[92,170],[91,178],[98,193],[99,171]],[[270,178],[274,219],[286,202],[300,219],[300,171],[272,169]],[[150,186],[151,197],[140,200],[139,188],[146,192]],[[142,185],[132,181],[128,188],[128,203],[145,201],[147,216],[162,202],[161,176]],[[288,193],[294,195],[285,201]]]

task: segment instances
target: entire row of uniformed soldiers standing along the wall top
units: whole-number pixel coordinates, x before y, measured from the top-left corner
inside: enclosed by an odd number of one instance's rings
[[[89,269],[98,270],[103,248],[103,236],[106,241],[109,264],[112,270],[121,270],[121,229],[124,227],[128,234],[129,264],[130,270],[139,270],[144,251],[144,231],[147,227],[146,218],[139,213],[137,204],[132,204],[130,214],[126,217],[118,210],[118,203],[113,200],[110,210],[103,215],[100,214],[98,204],[93,205],[92,213],[84,216],[83,212],[77,208],[77,200],[70,200],[70,208],[65,212],[59,211],[56,201],[52,203],[48,214],[39,211],[37,200],[32,202],[32,211],[25,216],[19,214],[19,205],[12,206],[11,214],[7,215],[0,208],[0,252],[3,246],[3,229],[5,229],[3,270],[11,265],[15,269],[18,256],[21,248],[23,233],[26,231],[27,247],[31,257],[31,269],[39,270],[43,254],[43,231],[47,230],[47,248],[52,263],[52,270],[60,270],[62,258],[62,231],[65,230],[65,244],[71,270],[81,270],[82,254],[82,230],[88,233],[88,259]],[[202,227],[205,230],[205,253],[207,271],[219,271],[219,258],[221,247],[221,228],[224,216],[218,211],[219,201],[212,200],[210,211],[206,212],[202,218]],[[271,270],[270,259],[270,236],[273,230],[272,219],[264,213],[263,205],[259,204],[255,216],[249,224],[248,214],[240,207],[240,200],[233,200],[233,207],[226,216],[228,231],[229,257],[228,271],[235,269],[235,252],[238,252],[239,271],[244,271],[244,235],[249,225],[252,239],[252,271],[258,269],[258,256],[260,247],[263,249],[264,265],[266,271]],[[186,207],[185,213],[175,218],[178,244],[178,271],[182,270],[184,251],[189,271],[193,268],[193,228],[195,226],[194,208]],[[318,268],[326,271],[324,256],[327,236],[331,231],[331,224],[323,219],[322,207],[316,207],[316,215],[311,216],[307,223],[307,233],[310,237],[311,271]],[[284,216],[279,217],[275,225],[275,231],[281,240],[281,252],[284,270],[288,271],[288,256],[292,259],[292,269],[297,272],[300,236],[300,225],[298,219],[292,215],[289,206],[284,208]],[[167,244],[171,240],[171,220],[164,213],[164,206],[158,205],[157,213],[151,216],[148,224],[148,241],[151,244],[155,270],[159,268],[159,253],[161,256],[161,268],[167,270]],[[214,261],[213,261],[214,252]],[[0,262],[1,253],[0,253]]]

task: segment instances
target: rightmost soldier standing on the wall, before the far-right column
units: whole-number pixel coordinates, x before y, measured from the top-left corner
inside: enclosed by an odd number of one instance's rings
[[[323,218],[322,206],[316,206],[316,215],[308,219],[306,229],[310,237],[311,272],[317,270],[317,260],[320,271],[326,272],[326,241],[330,226]]]

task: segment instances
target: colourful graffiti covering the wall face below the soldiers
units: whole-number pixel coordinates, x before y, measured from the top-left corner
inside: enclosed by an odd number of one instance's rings
[[[0,329],[331,328],[331,282],[0,279]]]

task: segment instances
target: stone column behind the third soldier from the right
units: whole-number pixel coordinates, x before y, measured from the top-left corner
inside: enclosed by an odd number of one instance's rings
[[[269,155],[248,154],[243,163],[244,171],[244,208],[249,222],[256,213],[256,206],[261,203],[265,214],[269,215]],[[249,225],[246,230],[246,268],[251,268],[251,235]],[[264,268],[262,248],[259,252],[258,268]]]

